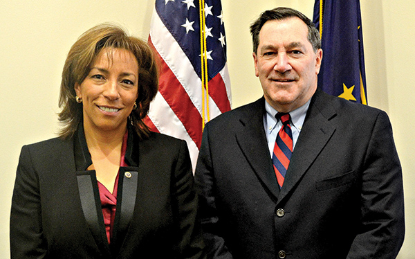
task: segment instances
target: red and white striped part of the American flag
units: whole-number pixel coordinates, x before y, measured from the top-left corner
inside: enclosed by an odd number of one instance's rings
[[[190,150],[193,170],[202,138],[201,79],[190,60],[154,10],[149,35],[161,61],[160,84],[145,123],[151,130],[184,139]],[[210,119],[230,110],[228,66],[209,81]]]

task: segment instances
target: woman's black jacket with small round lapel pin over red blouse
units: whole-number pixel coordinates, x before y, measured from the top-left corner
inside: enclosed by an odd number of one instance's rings
[[[200,258],[185,141],[129,130],[111,245],[82,127],[21,150],[10,217],[12,258]],[[130,173],[127,173],[130,172]]]

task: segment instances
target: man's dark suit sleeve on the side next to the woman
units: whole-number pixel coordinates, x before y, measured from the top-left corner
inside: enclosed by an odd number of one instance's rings
[[[203,238],[205,239],[208,258],[232,259],[226,247],[214,193],[214,172],[209,143],[209,124],[203,131],[203,138],[199,158],[196,165],[196,191],[199,195],[199,206],[202,220]]]

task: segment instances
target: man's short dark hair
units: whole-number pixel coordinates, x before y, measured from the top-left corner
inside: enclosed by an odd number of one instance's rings
[[[262,12],[261,15],[259,15],[259,18],[251,24],[250,33],[252,35],[254,52],[257,53],[259,46],[259,31],[267,21],[283,20],[291,17],[298,17],[304,21],[304,24],[306,24],[308,28],[308,42],[310,42],[313,46],[313,51],[315,52],[321,48],[322,42],[320,39],[320,33],[317,28],[315,28],[315,24],[311,21],[311,19],[308,19],[308,17],[303,15],[301,12],[292,8],[279,7]]]

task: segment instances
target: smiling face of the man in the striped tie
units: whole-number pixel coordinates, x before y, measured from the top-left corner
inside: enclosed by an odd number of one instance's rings
[[[315,53],[307,39],[308,28],[297,17],[267,21],[259,32],[253,53],[267,102],[280,112],[304,105],[317,89],[322,50]]]

